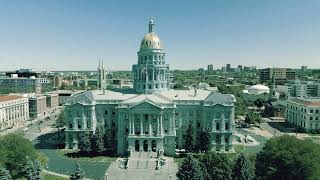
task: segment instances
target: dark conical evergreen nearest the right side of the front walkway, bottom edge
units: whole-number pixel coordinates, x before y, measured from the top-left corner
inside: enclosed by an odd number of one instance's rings
[[[202,180],[203,175],[199,161],[188,154],[177,172],[177,177],[180,180]]]

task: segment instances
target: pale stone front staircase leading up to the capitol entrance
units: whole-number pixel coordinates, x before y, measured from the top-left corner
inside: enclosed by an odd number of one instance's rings
[[[128,159],[129,169],[155,170],[157,167],[157,154],[155,152],[132,152]]]

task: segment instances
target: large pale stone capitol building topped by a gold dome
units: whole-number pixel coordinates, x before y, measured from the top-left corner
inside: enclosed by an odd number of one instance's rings
[[[213,151],[232,151],[235,97],[193,88],[170,89],[169,64],[154,21],[143,37],[138,63],[132,66],[130,92],[106,89],[106,73],[99,64],[99,90],[73,96],[65,104],[65,147],[77,149],[80,133],[103,127],[108,148],[118,155],[154,151],[173,156],[184,149],[186,130],[211,132]]]

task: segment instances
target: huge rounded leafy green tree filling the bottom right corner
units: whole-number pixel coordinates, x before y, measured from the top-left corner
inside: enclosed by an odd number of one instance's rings
[[[319,179],[320,146],[289,135],[274,137],[257,154],[255,166],[260,179]]]

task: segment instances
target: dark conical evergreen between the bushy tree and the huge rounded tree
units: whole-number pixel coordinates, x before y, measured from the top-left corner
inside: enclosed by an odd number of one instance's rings
[[[241,153],[233,165],[234,180],[251,180],[254,177],[254,168],[250,160]]]

